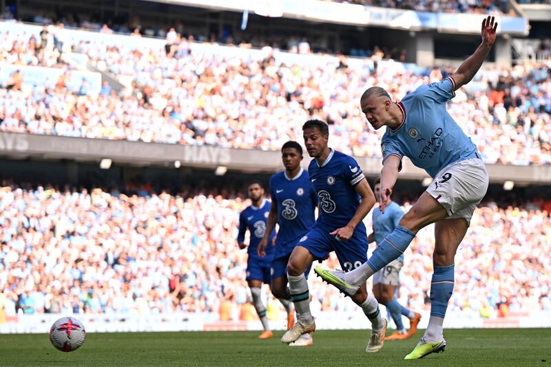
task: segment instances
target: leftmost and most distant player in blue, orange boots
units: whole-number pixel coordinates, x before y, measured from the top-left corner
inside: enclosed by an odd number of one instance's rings
[[[240,249],[245,249],[245,233],[249,229],[251,235],[249,240],[249,247],[247,249],[247,283],[251,288],[251,295],[253,297],[253,305],[256,308],[256,313],[260,317],[262,322],[262,328],[264,331],[260,334],[260,339],[268,339],[273,337],[273,333],[270,331],[268,324],[268,317],[266,317],[266,307],[262,304],[260,298],[262,292],[262,283],[270,284],[271,275],[271,260],[273,258],[273,247],[269,247],[264,257],[260,257],[257,254],[256,247],[264,238],[264,232],[266,231],[266,221],[269,216],[270,202],[264,198],[264,189],[260,181],[253,181],[249,184],[248,188],[249,198],[252,201],[252,205],[245,208],[239,216],[239,233],[237,242]],[[275,231],[269,233],[269,240],[273,240],[275,237]],[[289,302],[289,301],[287,301]]]

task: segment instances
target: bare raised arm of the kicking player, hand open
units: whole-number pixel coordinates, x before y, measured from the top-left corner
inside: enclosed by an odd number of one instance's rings
[[[488,18],[482,21],[482,43],[480,43],[475,53],[469,56],[452,74],[453,82],[455,83],[453,90],[458,90],[459,87],[470,82],[475,74],[477,74],[495,42],[496,30],[497,22],[494,23],[494,17],[488,16]]]

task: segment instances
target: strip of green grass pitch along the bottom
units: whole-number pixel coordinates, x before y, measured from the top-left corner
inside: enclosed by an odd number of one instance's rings
[[[291,348],[256,332],[90,333],[62,353],[47,335],[0,335],[0,366],[550,366],[551,329],[448,330],[444,353],[404,361],[422,331],[365,353],[368,331],[318,331]]]

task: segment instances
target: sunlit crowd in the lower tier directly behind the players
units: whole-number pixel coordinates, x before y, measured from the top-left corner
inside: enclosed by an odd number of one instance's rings
[[[236,236],[249,200],[230,187],[187,188],[176,196],[141,187],[126,195],[3,182],[0,320],[17,313],[174,311],[247,318],[247,255]],[[456,256],[450,308],[484,317],[503,304],[550,311],[550,212],[551,200],[542,199],[481,205]],[[419,232],[405,255],[400,298],[416,311],[429,309],[432,233]],[[325,266],[339,267],[333,256]],[[333,287],[310,281],[313,309],[355,309]]]

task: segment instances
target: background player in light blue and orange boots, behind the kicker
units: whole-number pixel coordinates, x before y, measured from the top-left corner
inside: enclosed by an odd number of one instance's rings
[[[375,197],[378,197],[381,189],[381,182],[379,179],[375,181],[373,189],[375,191]],[[380,207],[373,209],[373,233],[367,236],[367,242],[375,242],[377,245],[381,244],[386,235],[394,231],[398,226],[403,216],[404,211],[402,208],[397,205],[396,202],[393,202],[390,196],[387,196],[386,202],[384,203],[384,214]],[[377,273],[373,275],[373,295],[375,295],[375,298],[380,304],[386,306],[388,313],[391,314],[396,324],[395,333],[385,337],[385,340],[403,340],[412,337],[417,332],[417,325],[421,319],[419,313],[413,312],[402,306],[396,299],[396,291],[400,284],[399,275],[402,266],[404,266],[403,253],[399,258],[384,266],[383,269],[377,271]],[[408,317],[410,320],[408,332],[406,332],[406,328],[404,328],[402,315]]]

